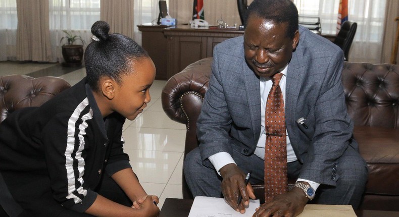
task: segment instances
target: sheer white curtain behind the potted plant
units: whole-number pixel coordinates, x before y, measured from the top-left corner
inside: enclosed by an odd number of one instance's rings
[[[84,49],[90,43],[91,26],[100,18],[100,0],[49,0],[49,24],[54,62],[63,62],[61,46],[66,42],[63,30],[72,31],[84,41]],[[76,42],[81,44],[80,41]]]

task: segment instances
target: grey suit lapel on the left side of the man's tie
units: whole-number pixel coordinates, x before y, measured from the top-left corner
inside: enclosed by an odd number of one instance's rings
[[[247,66],[245,61],[242,65],[242,71],[244,72],[245,92],[254,132],[254,144],[256,145],[261,133],[261,88],[259,78]]]

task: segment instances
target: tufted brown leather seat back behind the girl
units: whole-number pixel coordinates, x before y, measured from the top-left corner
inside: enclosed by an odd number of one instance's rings
[[[67,81],[58,77],[0,77],[0,123],[13,111],[28,106],[39,106],[69,87],[71,85]]]

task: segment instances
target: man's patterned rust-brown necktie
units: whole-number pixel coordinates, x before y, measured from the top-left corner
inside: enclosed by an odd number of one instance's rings
[[[272,77],[266,102],[265,202],[288,191],[284,100],[279,85],[282,76],[277,73]]]

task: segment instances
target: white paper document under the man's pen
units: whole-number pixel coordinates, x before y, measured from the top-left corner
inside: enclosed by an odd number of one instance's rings
[[[241,214],[231,208],[224,198],[196,196],[188,217],[251,217],[259,207],[259,200],[250,200],[250,205]]]

